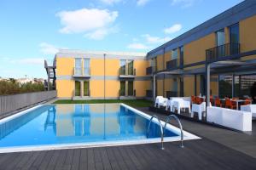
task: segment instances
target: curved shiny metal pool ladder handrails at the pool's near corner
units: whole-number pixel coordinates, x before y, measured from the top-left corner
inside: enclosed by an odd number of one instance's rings
[[[160,119],[158,116],[154,115],[150,118],[150,121],[148,123],[148,131],[147,131],[147,138],[148,138],[148,133],[149,133],[149,127],[150,127],[150,124],[151,122],[153,121],[153,119],[157,119],[157,121],[159,122],[159,125],[160,125],[160,133],[161,133],[161,150],[165,150],[164,148],[164,136],[165,136],[165,131],[166,131],[166,125],[168,122],[170,122],[171,118],[174,118],[177,122],[178,122],[178,125],[179,125],[179,129],[180,129],[180,141],[181,141],[181,145],[180,147],[183,148],[184,145],[183,145],[183,126],[180,122],[180,120],[177,118],[177,116],[175,115],[169,115],[166,117],[166,123],[165,123],[165,126],[163,127],[162,126],[162,123],[160,122]]]

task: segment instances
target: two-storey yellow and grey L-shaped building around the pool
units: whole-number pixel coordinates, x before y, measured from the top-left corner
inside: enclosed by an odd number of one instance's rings
[[[207,65],[216,62],[223,65],[212,67],[211,95],[249,95],[256,82],[256,1],[239,3],[146,55],[62,50],[56,88],[69,99],[203,95]]]

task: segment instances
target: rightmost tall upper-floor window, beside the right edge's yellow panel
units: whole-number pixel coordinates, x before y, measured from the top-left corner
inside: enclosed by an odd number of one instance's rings
[[[239,53],[239,24],[230,26],[230,54]]]

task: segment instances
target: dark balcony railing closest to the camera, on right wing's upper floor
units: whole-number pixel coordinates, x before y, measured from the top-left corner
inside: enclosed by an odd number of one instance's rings
[[[207,61],[217,60],[233,54],[240,54],[240,43],[226,43],[206,51]]]

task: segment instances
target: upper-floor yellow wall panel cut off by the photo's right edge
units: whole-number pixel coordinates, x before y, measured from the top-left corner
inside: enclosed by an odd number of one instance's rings
[[[241,52],[247,52],[256,49],[256,16],[246,20],[241,20],[240,26],[240,43]]]

